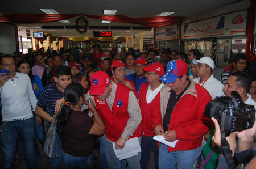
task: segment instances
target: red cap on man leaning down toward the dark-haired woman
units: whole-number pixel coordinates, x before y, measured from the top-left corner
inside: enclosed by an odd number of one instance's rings
[[[106,89],[106,86],[110,83],[109,75],[105,71],[97,71],[90,77],[90,95],[99,96],[102,95]]]

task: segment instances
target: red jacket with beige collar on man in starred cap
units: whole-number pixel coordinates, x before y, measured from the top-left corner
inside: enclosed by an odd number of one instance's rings
[[[191,85],[175,105],[168,129],[175,130],[176,140],[179,141],[174,148],[168,146],[168,151],[193,150],[200,147],[204,134],[212,126],[212,120],[204,114],[205,105],[212,100],[212,97],[192,78],[189,77],[189,80]],[[152,108],[153,129],[156,125],[163,126],[162,121],[170,98],[170,89],[167,84],[162,87],[156,104]]]

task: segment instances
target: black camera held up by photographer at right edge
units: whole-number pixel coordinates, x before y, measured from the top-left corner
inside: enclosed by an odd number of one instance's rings
[[[228,133],[252,128],[255,121],[254,106],[243,103],[236,91],[232,91],[231,96],[210,101],[205,107],[205,115],[209,119],[214,117],[221,125],[222,115],[226,114],[224,128]]]

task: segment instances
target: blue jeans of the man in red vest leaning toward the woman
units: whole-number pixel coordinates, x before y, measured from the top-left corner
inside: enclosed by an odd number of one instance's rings
[[[141,139],[139,139],[139,144],[141,144]],[[113,142],[106,140],[106,157],[108,159],[108,164],[110,168],[113,169],[124,169],[126,161],[128,162],[129,168],[137,169],[141,168],[139,165],[139,161],[141,160],[141,152],[138,153],[138,155],[134,155],[133,157],[129,157],[123,160],[119,160],[117,156],[115,155],[114,149],[113,149]]]

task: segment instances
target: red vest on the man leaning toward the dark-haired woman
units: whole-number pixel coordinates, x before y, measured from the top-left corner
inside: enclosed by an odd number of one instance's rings
[[[117,91],[115,93],[115,99],[114,103],[112,105],[112,111],[108,106],[108,103],[106,100],[104,101],[97,101],[96,109],[99,112],[102,120],[105,124],[105,134],[106,138],[109,140],[115,142],[119,137],[121,137],[121,134],[123,133],[123,130],[125,129],[125,126],[127,125],[127,121],[129,120],[129,112],[128,109],[128,101],[129,101],[129,92],[130,89],[126,87],[123,84],[117,84]],[[94,100],[98,100],[97,96],[94,96]],[[117,102],[122,104],[117,104]],[[135,130],[132,136],[129,138],[134,137],[141,137],[142,136],[142,128],[141,124],[138,126],[138,128]],[[128,139],[129,139],[128,138]]]

